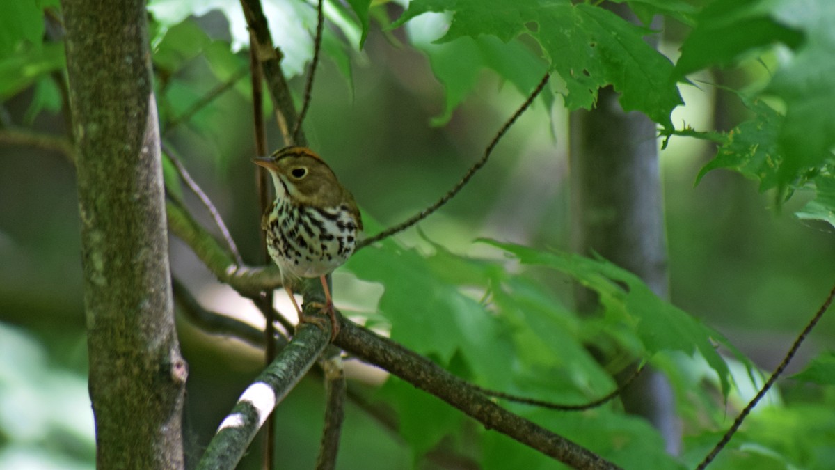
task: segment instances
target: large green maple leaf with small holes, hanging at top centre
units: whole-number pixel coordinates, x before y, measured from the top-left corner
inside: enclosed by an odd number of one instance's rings
[[[462,36],[493,35],[505,43],[521,33],[536,38],[550,69],[565,81],[570,110],[590,109],[597,90],[611,84],[624,110],[641,111],[672,129],[670,113],[682,103],[681,95],[670,60],[644,41],[650,30],[604,8],[569,0],[415,0],[394,26],[444,11],[453,12],[453,19],[441,43]]]

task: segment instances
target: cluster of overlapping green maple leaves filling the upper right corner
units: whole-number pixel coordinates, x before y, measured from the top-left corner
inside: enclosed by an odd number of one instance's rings
[[[760,189],[777,188],[777,203],[807,184],[810,172],[832,158],[835,146],[835,4],[781,0],[714,2],[696,17],[696,28],[681,46],[676,69],[682,76],[711,65],[757,58],[767,46],[784,44],[786,61],[757,95],[777,97],[782,112],[744,98],[755,117],[727,135],[715,161],[701,172],[730,168],[760,181]],[[818,175],[818,178],[831,176]],[[811,186],[825,188],[827,181]],[[817,204],[826,203],[819,197]],[[824,209],[823,211],[821,209]],[[835,207],[813,207],[803,217],[827,220]]]

